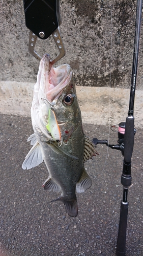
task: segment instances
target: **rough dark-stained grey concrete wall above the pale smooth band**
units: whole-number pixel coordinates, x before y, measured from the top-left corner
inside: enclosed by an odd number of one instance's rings
[[[77,86],[130,88],[136,1],[60,1],[66,56],[56,63],[71,65]],[[28,53],[29,31],[25,27],[23,1],[0,2],[0,80],[35,82],[39,61]],[[137,88],[142,89],[142,37]],[[52,36],[38,40],[39,54],[57,55]],[[110,55],[112,58],[110,58]]]

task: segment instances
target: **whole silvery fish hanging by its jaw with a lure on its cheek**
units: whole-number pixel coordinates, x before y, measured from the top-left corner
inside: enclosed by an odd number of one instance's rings
[[[53,68],[49,54],[40,61],[31,117],[34,134],[27,141],[33,147],[22,168],[30,169],[44,161],[49,175],[44,190],[61,191],[61,196],[51,202],[62,201],[68,215],[76,217],[76,193],[92,185],[84,162],[98,153],[83,132],[71,67],[63,64]]]

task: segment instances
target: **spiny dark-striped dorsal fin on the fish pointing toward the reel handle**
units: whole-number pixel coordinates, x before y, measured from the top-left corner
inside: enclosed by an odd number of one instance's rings
[[[95,150],[95,146],[93,142],[86,136],[84,136],[84,155],[83,155],[83,161],[86,162],[93,156],[99,155],[97,151]]]

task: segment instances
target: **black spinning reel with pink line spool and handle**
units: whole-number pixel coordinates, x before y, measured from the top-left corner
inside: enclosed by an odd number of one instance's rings
[[[125,127],[126,127],[126,122],[121,122],[116,125],[111,126],[111,130],[113,132],[118,132],[118,144],[113,145],[113,144],[108,144],[107,140],[98,140],[97,138],[93,138],[93,143],[95,145],[97,144],[106,144],[106,146],[114,149],[114,150],[120,150],[122,155],[124,156],[124,134],[125,134]],[[117,131],[116,131],[117,130]],[[134,135],[136,133],[136,129],[134,128]]]

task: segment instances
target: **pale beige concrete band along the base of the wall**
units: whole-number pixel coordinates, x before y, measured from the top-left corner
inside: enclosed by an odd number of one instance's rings
[[[0,81],[0,113],[31,116],[34,83]],[[125,122],[128,115],[129,89],[76,87],[82,122],[95,125],[115,125]],[[143,91],[135,95],[135,127],[143,125],[141,109]]]

